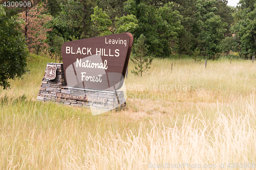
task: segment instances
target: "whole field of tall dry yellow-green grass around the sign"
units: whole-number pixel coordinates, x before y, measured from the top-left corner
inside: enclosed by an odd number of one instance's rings
[[[256,168],[255,63],[154,59],[137,77],[130,62],[126,109],[92,116],[36,101],[47,62],[0,90],[0,169]]]

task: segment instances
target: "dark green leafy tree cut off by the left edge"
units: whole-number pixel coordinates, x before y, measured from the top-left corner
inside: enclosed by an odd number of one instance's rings
[[[8,16],[0,6],[0,86],[9,87],[8,79],[21,78],[27,71],[29,56],[17,16]]]

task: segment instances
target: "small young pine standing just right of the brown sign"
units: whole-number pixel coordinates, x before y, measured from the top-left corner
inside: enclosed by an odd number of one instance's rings
[[[132,73],[135,75],[142,76],[142,72],[150,68],[150,64],[153,61],[153,57],[147,55],[148,45],[145,44],[146,37],[141,34],[137,40],[137,43],[134,44],[134,53],[131,60],[135,63],[135,70],[132,70]]]

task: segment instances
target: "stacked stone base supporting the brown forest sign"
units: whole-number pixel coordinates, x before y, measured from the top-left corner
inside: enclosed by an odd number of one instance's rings
[[[47,64],[57,66],[56,78],[48,80],[44,75],[37,95],[38,101],[52,101],[63,105],[102,110],[122,109],[126,106],[123,91],[68,88],[63,65],[61,63]]]

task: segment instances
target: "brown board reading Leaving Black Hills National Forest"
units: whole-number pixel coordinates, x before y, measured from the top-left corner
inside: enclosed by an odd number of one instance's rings
[[[61,54],[67,84],[82,88],[119,89],[132,45],[131,33],[63,43]]]

